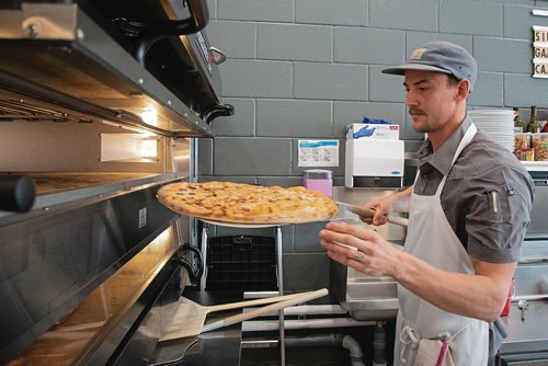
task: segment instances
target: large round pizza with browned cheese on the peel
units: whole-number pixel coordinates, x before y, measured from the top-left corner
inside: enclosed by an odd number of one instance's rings
[[[157,196],[176,213],[222,222],[299,224],[329,219],[338,213],[331,197],[302,186],[181,182],[162,186]]]

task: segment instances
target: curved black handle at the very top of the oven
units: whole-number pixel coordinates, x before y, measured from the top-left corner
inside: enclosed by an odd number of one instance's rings
[[[145,58],[150,47],[161,38],[194,34],[202,31],[209,22],[206,0],[186,0],[191,18],[178,21],[152,23],[142,30],[135,57],[145,66]]]

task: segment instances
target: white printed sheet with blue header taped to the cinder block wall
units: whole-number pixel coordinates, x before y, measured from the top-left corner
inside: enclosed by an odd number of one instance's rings
[[[339,167],[339,140],[299,140],[298,167]]]

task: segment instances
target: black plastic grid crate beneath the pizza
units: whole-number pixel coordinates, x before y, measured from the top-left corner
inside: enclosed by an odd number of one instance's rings
[[[208,290],[277,290],[273,237],[208,238],[206,263]]]

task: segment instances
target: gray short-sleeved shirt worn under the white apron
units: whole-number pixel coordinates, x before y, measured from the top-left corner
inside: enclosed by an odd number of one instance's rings
[[[435,194],[470,124],[467,116],[435,153],[430,140],[424,141],[419,150],[415,194]],[[478,130],[450,169],[441,201],[447,221],[471,256],[491,263],[512,263],[520,259],[530,221],[533,195],[533,181],[522,163]],[[489,329],[492,357],[506,338],[507,329],[500,318],[490,323]]]

